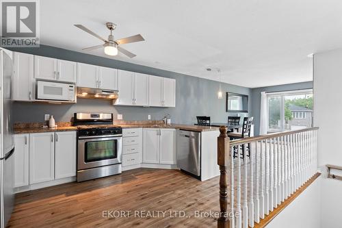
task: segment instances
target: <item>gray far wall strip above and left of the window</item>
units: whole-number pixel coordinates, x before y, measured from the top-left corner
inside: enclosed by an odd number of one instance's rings
[[[304,90],[313,88],[313,81],[295,83],[295,84],[286,84],[280,86],[267,86],[260,88],[252,88],[250,93],[250,104],[252,109],[250,110],[250,114],[254,116],[254,134],[259,135],[259,127],[260,127],[260,99],[261,92],[281,92],[288,90]]]

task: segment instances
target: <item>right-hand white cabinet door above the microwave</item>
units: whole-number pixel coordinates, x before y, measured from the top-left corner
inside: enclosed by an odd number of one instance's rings
[[[77,63],[57,60],[57,80],[76,83]]]

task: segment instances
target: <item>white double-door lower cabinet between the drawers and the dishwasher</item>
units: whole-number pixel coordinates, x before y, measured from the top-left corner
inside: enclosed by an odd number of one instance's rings
[[[143,163],[176,164],[176,129],[144,129]]]

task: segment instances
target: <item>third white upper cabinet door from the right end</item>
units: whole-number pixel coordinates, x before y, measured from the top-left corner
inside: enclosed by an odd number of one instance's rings
[[[148,75],[134,73],[134,105],[148,105]]]

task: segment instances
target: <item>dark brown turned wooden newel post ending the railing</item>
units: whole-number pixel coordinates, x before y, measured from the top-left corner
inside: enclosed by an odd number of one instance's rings
[[[228,164],[229,164],[229,138],[227,127],[220,127],[218,137],[218,165],[220,166],[220,218],[218,218],[218,228],[228,228]]]

